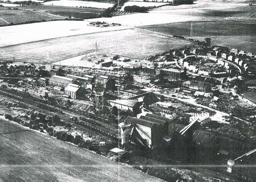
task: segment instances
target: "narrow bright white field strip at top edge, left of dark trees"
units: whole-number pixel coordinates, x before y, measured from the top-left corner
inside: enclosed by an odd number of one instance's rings
[[[108,9],[112,7],[114,4],[111,3],[98,3],[93,1],[77,1],[77,0],[59,0],[59,1],[48,1],[43,3],[45,5],[54,5],[54,6],[68,6],[68,7],[96,7],[96,8],[103,8]]]

